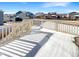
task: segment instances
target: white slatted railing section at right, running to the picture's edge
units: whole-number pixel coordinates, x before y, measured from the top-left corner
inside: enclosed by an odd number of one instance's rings
[[[79,26],[58,24],[58,31],[79,35]]]

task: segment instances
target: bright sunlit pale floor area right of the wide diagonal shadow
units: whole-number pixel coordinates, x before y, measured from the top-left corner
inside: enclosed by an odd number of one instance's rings
[[[78,57],[79,49],[73,43],[74,35],[54,32],[36,57]]]

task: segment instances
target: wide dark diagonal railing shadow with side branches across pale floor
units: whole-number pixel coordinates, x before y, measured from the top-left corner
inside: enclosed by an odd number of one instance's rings
[[[38,33],[46,33],[47,35],[40,42],[32,42],[32,41],[24,40],[24,41],[36,44],[36,46],[28,54],[26,54],[25,57],[34,57],[36,53],[39,51],[39,49],[48,41],[51,35],[53,35],[53,33],[42,32],[42,31]]]

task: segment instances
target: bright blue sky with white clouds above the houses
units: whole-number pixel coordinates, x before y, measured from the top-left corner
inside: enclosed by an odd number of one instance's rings
[[[36,12],[69,13],[79,12],[79,2],[0,2],[4,13],[16,13],[19,10]]]

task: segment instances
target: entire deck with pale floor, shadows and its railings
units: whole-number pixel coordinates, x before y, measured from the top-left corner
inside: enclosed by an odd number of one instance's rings
[[[35,19],[32,21],[14,22],[9,24],[12,26],[12,31],[10,31],[9,28],[9,34],[7,35],[6,32],[6,37],[4,37],[4,31],[2,30],[0,56],[33,57],[37,52],[39,53],[37,53],[36,56],[78,56],[78,47],[72,42],[72,39],[74,36],[79,35],[79,21]],[[37,29],[33,29],[32,31],[33,25],[37,25]],[[49,37],[49,33],[52,33],[52,37]],[[68,35],[66,36],[67,33]],[[48,43],[44,45],[48,39]],[[34,46],[30,47],[27,43],[34,44]],[[57,45],[55,45],[55,43]],[[29,50],[27,47],[30,47],[31,49]],[[38,51],[40,47],[42,48]],[[64,50],[62,50],[63,47]],[[51,52],[51,49],[53,52]]]

